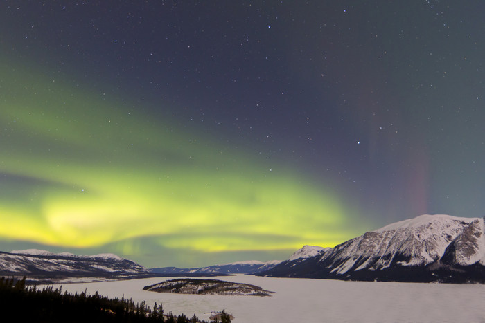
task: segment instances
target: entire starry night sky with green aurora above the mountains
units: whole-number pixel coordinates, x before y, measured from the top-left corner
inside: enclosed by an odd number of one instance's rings
[[[0,2],[0,250],[286,259],[484,216],[481,0]]]

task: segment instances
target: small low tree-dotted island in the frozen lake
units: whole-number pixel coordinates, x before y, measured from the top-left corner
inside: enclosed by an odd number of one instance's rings
[[[218,279],[170,279],[158,284],[145,286],[143,290],[157,293],[179,293],[196,295],[250,295],[271,296],[269,290],[250,284],[225,282]]]

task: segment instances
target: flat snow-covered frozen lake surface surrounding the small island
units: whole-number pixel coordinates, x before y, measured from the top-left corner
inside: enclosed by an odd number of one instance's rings
[[[96,291],[109,297],[164,304],[164,311],[200,319],[225,309],[233,322],[485,322],[485,286],[384,282],[342,282],[325,279],[255,276],[211,277],[261,286],[272,297],[179,295],[143,290],[170,278],[64,284],[70,293]],[[54,286],[55,288],[58,285]]]

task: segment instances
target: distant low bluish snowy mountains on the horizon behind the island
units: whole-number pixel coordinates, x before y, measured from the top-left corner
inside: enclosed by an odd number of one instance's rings
[[[231,264],[220,264],[209,267],[202,268],[176,268],[176,267],[163,267],[163,268],[152,268],[150,269],[152,273],[157,274],[254,274],[261,271],[270,270],[281,261],[237,261]]]

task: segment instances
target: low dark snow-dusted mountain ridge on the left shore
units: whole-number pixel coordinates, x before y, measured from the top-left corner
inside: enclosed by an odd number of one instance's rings
[[[0,252],[0,275],[130,277],[148,273],[147,268],[113,254],[76,256],[37,249]]]

